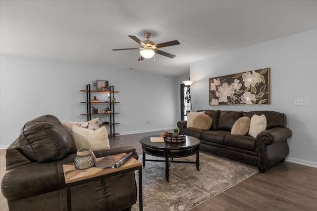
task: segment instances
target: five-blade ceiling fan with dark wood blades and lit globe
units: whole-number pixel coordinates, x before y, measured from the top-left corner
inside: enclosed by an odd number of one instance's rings
[[[121,48],[121,49],[112,49],[112,50],[141,50],[140,51],[140,58],[139,61],[142,61],[144,58],[151,58],[154,56],[155,53],[158,53],[163,56],[167,56],[168,58],[174,58],[175,55],[167,53],[165,51],[159,50],[160,47],[167,47],[171,45],[177,45],[180,44],[178,41],[169,41],[169,42],[162,42],[159,44],[155,44],[154,42],[150,41],[149,38],[151,38],[152,33],[146,32],[144,33],[144,36],[147,38],[146,41],[141,41],[137,37],[128,35],[129,38],[134,40],[135,42],[138,42],[141,47],[138,48]]]

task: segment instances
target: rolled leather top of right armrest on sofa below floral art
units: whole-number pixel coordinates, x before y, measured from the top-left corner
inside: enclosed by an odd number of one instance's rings
[[[259,140],[265,140],[265,145],[284,141],[292,136],[292,131],[287,127],[274,127],[258,134]],[[263,139],[263,137],[266,137]]]

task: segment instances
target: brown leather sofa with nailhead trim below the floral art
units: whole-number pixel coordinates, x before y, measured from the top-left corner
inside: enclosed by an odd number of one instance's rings
[[[292,132],[286,127],[286,115],[274,111],[204,111],[212,119],[208,130],[187,127],[187,121],[179,121],[177,127],[181,132],[201,140],[200,149],[215,155],[257,166],[261,172],[277,162],[284,161],[289,149],[287,139]],[[265,115],[266,130],[256,138],[249,135],[232,135],[231,128],[240,117]]]

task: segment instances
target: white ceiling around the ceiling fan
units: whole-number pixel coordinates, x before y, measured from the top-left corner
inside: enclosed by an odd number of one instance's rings
[[[315,0],[1,0],[0,53],[177,76],[190,63],[317,28]],[[137,61],[152,32],[175,58]]]

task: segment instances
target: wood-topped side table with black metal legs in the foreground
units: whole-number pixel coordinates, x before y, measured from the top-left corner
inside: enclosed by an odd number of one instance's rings
[[[103,158],[97,158],[96,160],[99,161],[101,159]],[[139,170],[139,207],[140,211],[142,211],[142,163],[137,161],[136,159],[130,158],[117,169],[101,169],[95,167],[89,169],[75,169],[74,163],[63,165],[63,172],[67,191],[68,211],[71,211],[71,187],[134,170]]]

